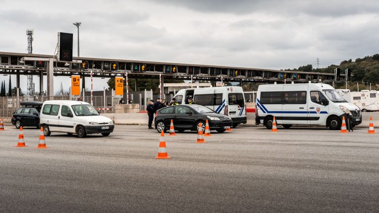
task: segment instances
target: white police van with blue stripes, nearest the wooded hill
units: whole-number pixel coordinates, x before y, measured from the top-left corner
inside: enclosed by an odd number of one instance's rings
[[[256,100],[256,124],[272,128],[272,120],[284,128],[293,124],[326,125],[341,128],[342,116],[352,115],[353,126],[362,123],[358,106],[348,103],[329,84],[260,85]]]

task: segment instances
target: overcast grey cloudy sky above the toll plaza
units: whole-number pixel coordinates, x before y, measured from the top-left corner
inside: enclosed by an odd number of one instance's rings
[[[26,53],[33,29],[33,53],[66,32],[76,56],[81,22],[83,57],[279,70],[379,53],[378,0],[1,0],[0,20],[3,52]]]

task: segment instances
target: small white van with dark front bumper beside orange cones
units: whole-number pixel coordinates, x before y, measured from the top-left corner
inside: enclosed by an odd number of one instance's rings
[[[95,133],[109,136],[114,130],[110,118],[100,115],[92,105],[81,101],[43,102],[39,126],[43,127],[45,136],[51,132],[64,132],[76,134],[79,138]]]

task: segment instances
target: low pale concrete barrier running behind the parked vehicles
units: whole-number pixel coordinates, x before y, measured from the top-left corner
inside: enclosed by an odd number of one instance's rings
[[[104,113],[101,114],[111,118],[114,124],[137,124],[148,125],[148,115],[146,113]],[[374,126],[379,126],[379,112],[362,112],[362,124],[357,127],[368,127],[370,116],[373,116]],[[247,113],[247,124],[255,126],[255,113]]]

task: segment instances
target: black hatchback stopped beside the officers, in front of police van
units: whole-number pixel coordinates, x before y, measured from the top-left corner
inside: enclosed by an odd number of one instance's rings
[[[175,130],[184,132],[185,130],[197,131],[201,123],[203,131],[205,122],[208,119],[209,129],[217,132],[225,132],[232,125],[231,119],[223,114],[216,113],[212,109],[201,105],[175,105],[167,106],[157,110],[155,116],[155,128],[160,133],[170,129],[170,122],[173,120]]]

